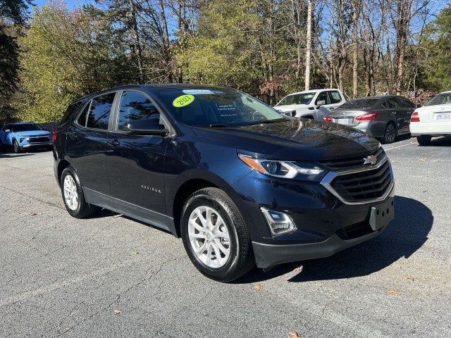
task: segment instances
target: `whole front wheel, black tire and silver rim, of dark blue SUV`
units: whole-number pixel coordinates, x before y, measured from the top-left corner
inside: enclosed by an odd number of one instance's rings
[[[245,221],[223,190],[194,192],[185,202],[180,220],[185,250],[206,277],[232,282],[253,268],[254,253]]]

